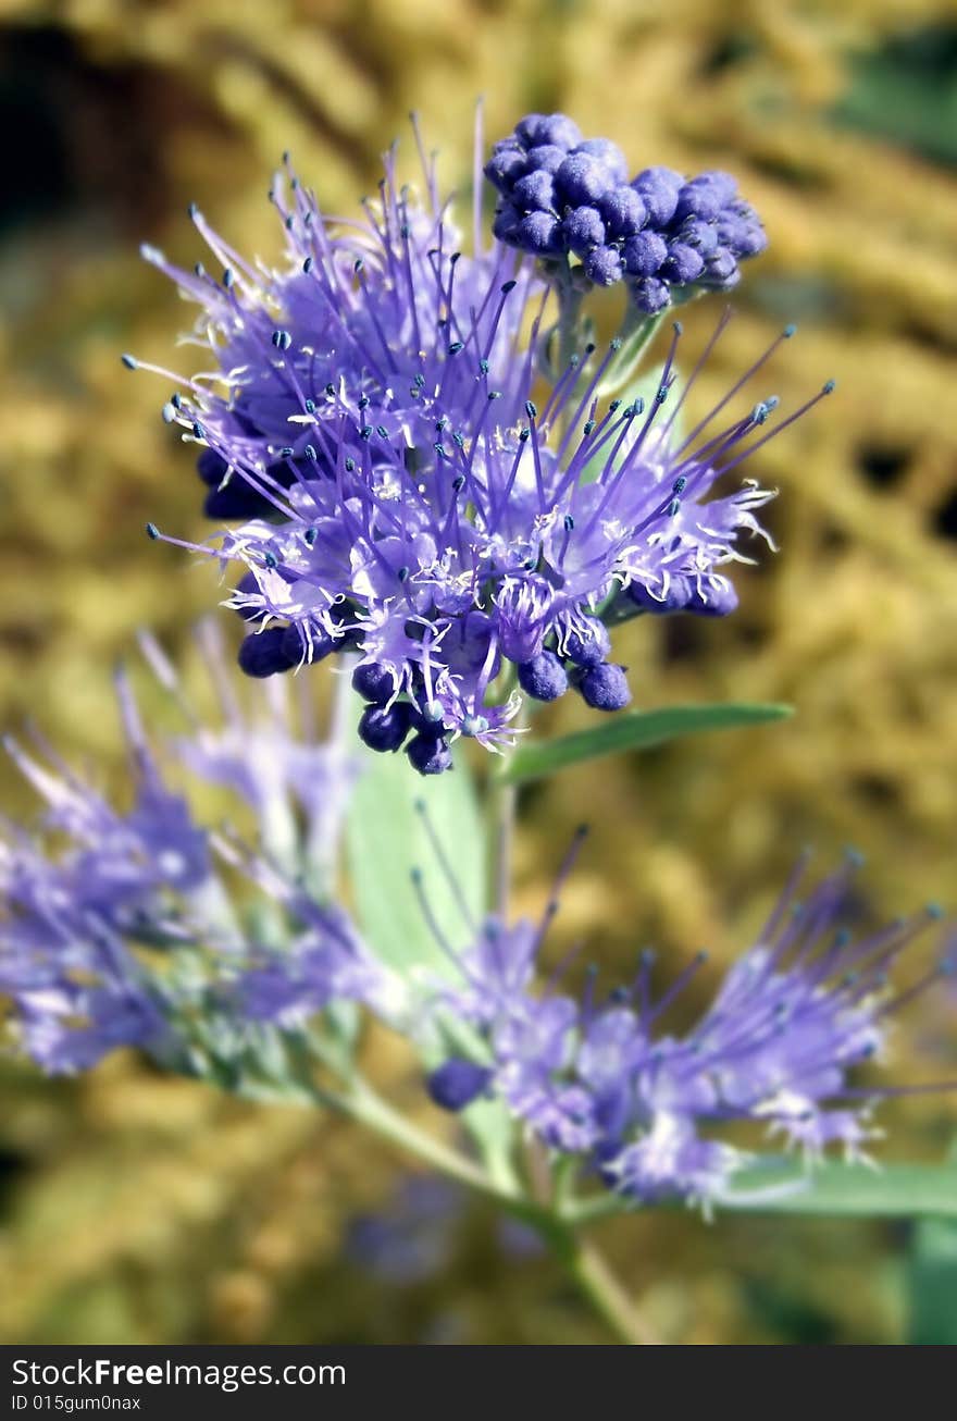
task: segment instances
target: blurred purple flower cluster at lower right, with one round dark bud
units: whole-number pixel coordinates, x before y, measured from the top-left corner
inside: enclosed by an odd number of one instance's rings
[[[711,1006],[683,1034],[665,1013],[706,961],[700,953],[662,996],[653,955],[635,980],[599,1000],[532,990],[544,929],[488,918],[457,956],[461,983],[437,990],[433,1009],[478,1033],[474,1059],[459,1052],[429,1077],[432,1098],[461,1110],[478,1096],[504,1100],[549,1150],[579,1157],[636,1204],[682,1198],[720,1204],[748,1161],[720,1137],[754,1121],[811,1158],[842,1145],[865,1158],[882,1087],[855,1083],[883,1053],[893,1010],[947,963],[895,996],[887,971],[936,909],[855,939],[843,925],[853,865],[795,899],[804,864],[771,919],[726,973]]]

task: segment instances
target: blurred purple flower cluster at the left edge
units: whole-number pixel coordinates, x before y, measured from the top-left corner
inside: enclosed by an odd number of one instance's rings
[[[209,641],[204,649],[216,662]],[[159,648],[146,651],[177,689]],[[294,837],[290,794],[305,814],[305,851],[335,834],[352,770],[334,746],[292,737],[278,686],[266,718],[251,722],[226,695],[226,723],[195,725],[177,749],[254,811],[260,845],[240,848],[196,824],[160,773],[125,678],[118,691],[133,776],[125,813],[38,737],[33,752],[7,742],[47,813],[41,837],[16,826],[0,837],[0,992],[23,1050],[47,1071],[82,1070],[135,1046],[168,1069],[241,1086],[268,1059],[270,1032],[334,999],[381,1007],[389,990],[346,915],[304,890],[308,865]],[[67,847],[51,853],[47,833]],[[233,901],[223,864],[241,868],[283,914],[281,949]]]

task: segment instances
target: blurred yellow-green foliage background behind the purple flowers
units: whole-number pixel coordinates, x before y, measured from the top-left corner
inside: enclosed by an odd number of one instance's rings
[[[704,944],[727,958],[808,841],[824,863],[848,841],[865,850],[873,914],[953,904],[953,4],[6,0],[0,16],[4,728],[34,716],[115,773],[111,665],[143,624],[182,644],[219,595],[209,568],[142,537],[146,519],[185,536],[202,522],[189,450],[158,416],[165,387],[116,358],[175,362],[189,320],[138,242],[192,261],[195,199],[271,256],[281,151],[344,210],[392,136],[408,145],[410,108],[461,182],[481,92],[491,136],[562,108],[635,168],[738,175],[772,246],[747,270],[701,399],[788,320],[799,335],[758,394],[794,402],[839,384],[760,458],[781,489],[781,553],[740,577],[738,615],[620,635],[640,705],[788,699],[798,718],[538,790],[521,902],[541,902],[585,807],[594,837],[555,952],[588,931],[594,956],[619,966],[649,941],[673,962]],[[716,314],[690,313],[691,341]],[[584,722],[568,702],[555,728]],[[3,791],[27,809],[7,770]],[[900,1079],[954,1073],[956,1017],[954,995],[912,1015]],[[389,1043],[376,1056],[416,1100],[405,1059]],[[6,1340],[605,1340],[552,1266],[503,1245],[481,1209],[436,1231],[444,1253],[417,1282],[356,1262],[349,1221],[395,1212],[400,1164],[346,1125],[239,1106],[128,1057],[65,1083],[7,1063],[0,1091]],[[956,1115],[922,1097],[885,1120],[887,1154],[933,1160]],[[602,1242],[666,1340],[920,1340],[903,1226],[669,1214]],[[944,1289],[957,1310],[953,1273]]]

